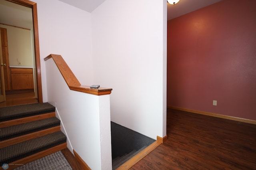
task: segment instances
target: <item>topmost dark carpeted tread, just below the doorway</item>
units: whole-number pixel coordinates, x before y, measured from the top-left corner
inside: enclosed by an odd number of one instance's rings
[[[32,103],[0,108],[0,122],[55,112],[50,103]]]

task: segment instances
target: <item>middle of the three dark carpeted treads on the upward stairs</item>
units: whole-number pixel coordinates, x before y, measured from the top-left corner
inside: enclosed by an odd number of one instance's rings
[[[56,117],[50,117],[47,119],[41,119],[38,121],[32,121],[19,125],[13,125],[10,127],[4,127],[0,129],[0,141],[29,134],[39,130],[55,127],[60,125],[60,120]]]

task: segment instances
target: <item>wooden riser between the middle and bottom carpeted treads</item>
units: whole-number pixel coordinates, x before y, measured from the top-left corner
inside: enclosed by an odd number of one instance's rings
[[[47,129],[40,130],[40,131],[37,131],[37,132],[32,132],[32,133],[25,134],[25,135],[22,135],[22,136],[17,136],[15,138],[10,138],[10,139],[7,139],[7,140],[3,140],[3,141],[0,141],[0,148],[4,148],[4,147],[10,146],[12,144],[16,144],[16,143],[19,143],[19,142],[23,142],[25,140],[30,140],[30,139],[33,139],[33,138],[37,138],[39,136],[44,136],[46,134],[50,134],[50,133],[58,132],[58,131],[60,131],[60,126],[47,128]]]

